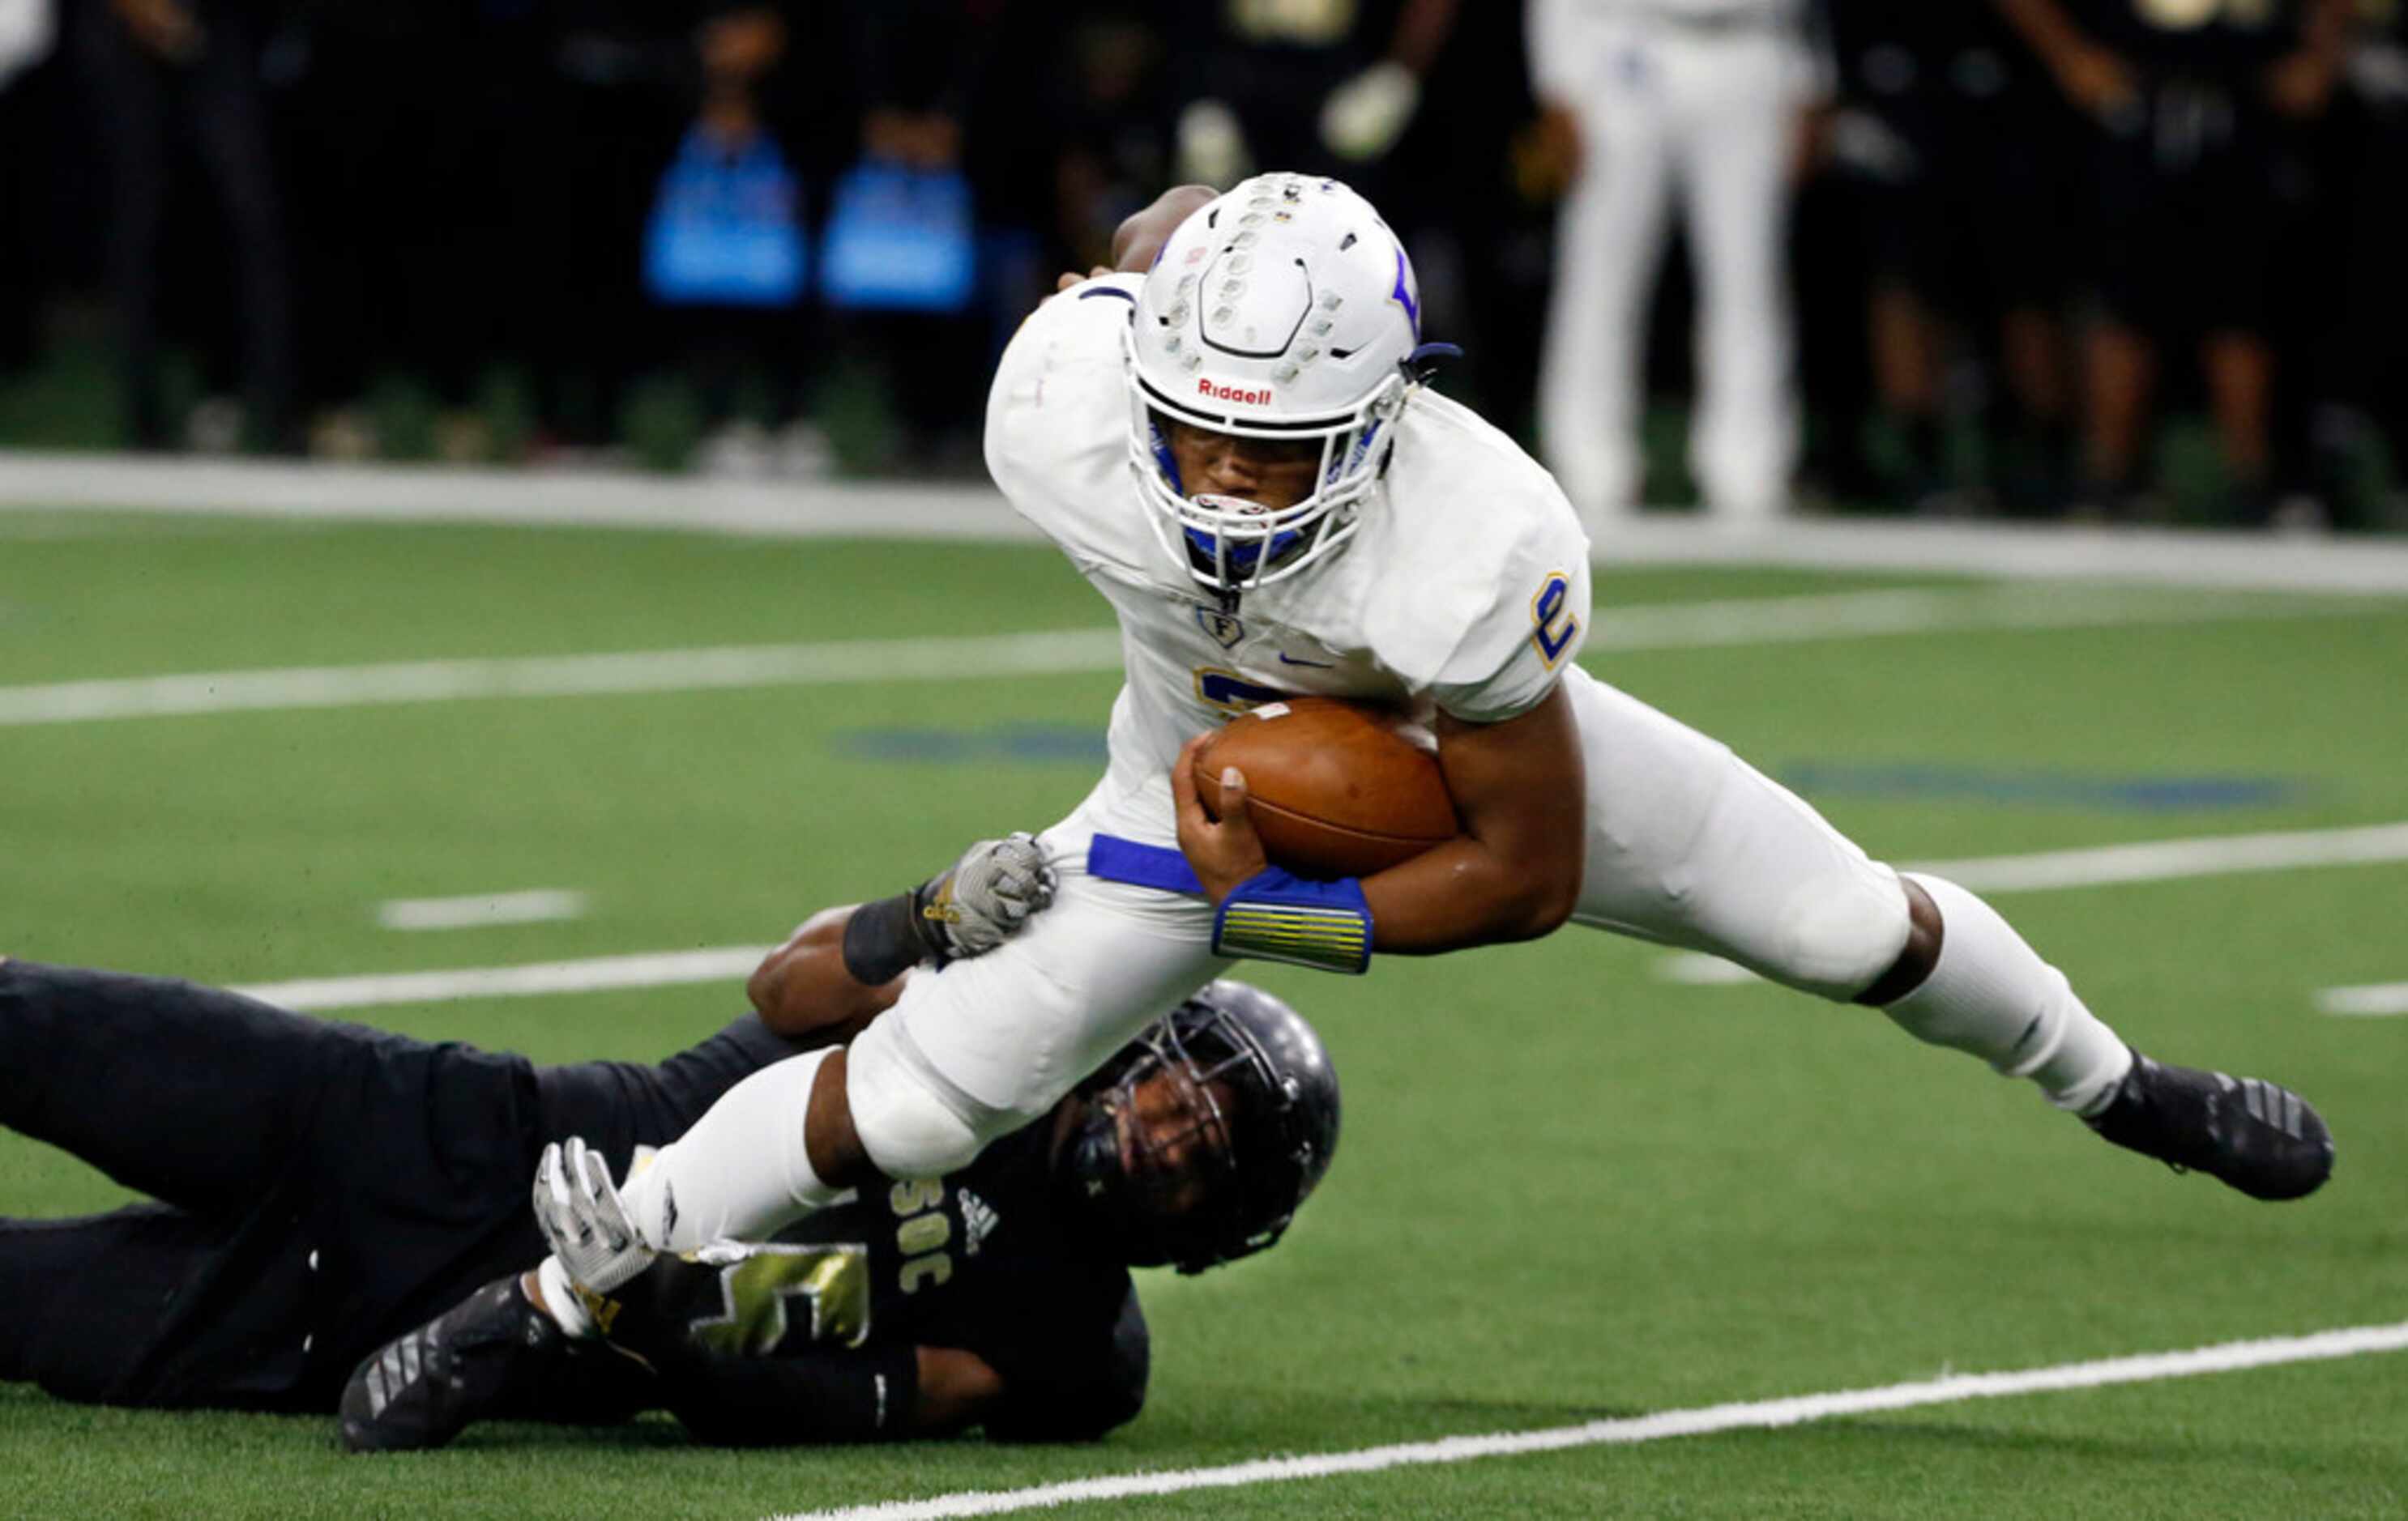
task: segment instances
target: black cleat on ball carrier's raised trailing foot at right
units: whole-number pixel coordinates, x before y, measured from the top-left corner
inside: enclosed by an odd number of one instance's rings
[[[2174,1172],[2220,1177],[2251,1199],[2302,1199],[2333,1174],[2333,1131],[2290,1088],[2167,1066],[2141,1052],[2088,1124]]]

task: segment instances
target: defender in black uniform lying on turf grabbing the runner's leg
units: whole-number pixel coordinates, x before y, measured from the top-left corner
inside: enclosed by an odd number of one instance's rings
[[[655,1266],[612,1316],[645,1362],[561,1348],[518,1288],[544,1256],[527,1177],[549,1138],[626,1170],[744,1076],[857,1030],[922,951],[992,948],[1043,905],[997,900],[1028,883],[992,850],[905,895],[908,915],[816,917],[754,977],[756,1016],[657,1066],[537,1069],[185,982],[0,960],[0,1124],[157,1201],[0,1220],[0,1379],[299,1413],[332,1410],[356,1369],[344,1439],[376,1449],[489,1415],[655,1405],[718,1442],[1129,1420],[1146,1328],[1127,1266],[1267,1247],[1336,1143],[1317,1037],[1240,984],[951,1179],[831,1211],[811,1239]]]

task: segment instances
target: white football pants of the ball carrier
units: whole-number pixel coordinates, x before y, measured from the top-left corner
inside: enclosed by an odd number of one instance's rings
[[[1577,922],[1724,955],[1825,999],[1864,992],[1898,960],[1907,898],[1895,871],[1727,746],[1577,667],[1565,686],[1589,792]],[[852,1121],[886,1174],[961,1167],[1230,970],[1211,953],[1202,898],[1086,874],[1098,828],[1163,840],[1168,794],[1168,782],[1098,787],[1043,835],[1060,871],[1052,907],[978,960],[915,975],[852,1042]]]

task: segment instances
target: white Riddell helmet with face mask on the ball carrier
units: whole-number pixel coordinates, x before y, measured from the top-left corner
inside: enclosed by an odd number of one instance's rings
[[[1214,592],[1296,575],[1353,537],[1421,385],[1404,243],[1336,180],[1264,173],[1180,224],[1129,320],[1129,469],[1156,537]],[[1276,513],[1190,496],[1168,421],[1320,440],[1315,489]]]

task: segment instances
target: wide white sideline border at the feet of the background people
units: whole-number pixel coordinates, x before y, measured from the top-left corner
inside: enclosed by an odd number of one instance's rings
[[[149,510],[356,522],[489,522],[756,539],[1038,541],[985,484],[722,481],[633,469],[460,469],[140,460],[0,450],[0,508]],[[2408,592],[2408,541],[2273,539],[2232,529],[1787,517],[1734,529],[1690,513],[1599,525],[1609,566],[1719,563],[1946,570],[2290,592]]]

